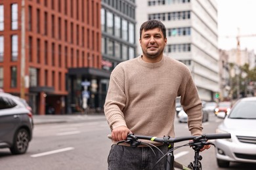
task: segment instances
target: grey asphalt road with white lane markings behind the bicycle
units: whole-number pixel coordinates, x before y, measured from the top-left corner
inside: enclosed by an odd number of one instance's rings
[[[90,121],[88,118],[78,120],[35,124],[33,140],[26,154],[13,156],[8,149],[0,149],[0,169],[107,169],[110,140],[106,136],[110,130],[104,116]],[[209,122],[203,124],[204,133],[215,133],[221,121],[214,115],[210,116]],[[186,124],[179,122],[175,122],[175,131],[177,136],[190,135]],[[188,161],[194,158],[192,152],[193,150],[188,147],[181,148],[175,151],[175,157],[177,161],[188,164]],[[202,152],[202,156],[203,169],[219,169],[213,146],[206,152]],[[228,169],[253,169],[254,167],[251,164],[231,163]]]

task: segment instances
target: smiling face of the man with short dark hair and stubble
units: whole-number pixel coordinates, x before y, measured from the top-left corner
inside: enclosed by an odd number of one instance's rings
[[[142,30],[140,46],[142,48],[143,56],[147,58],[158,58],[163,54],[166,38],[163,38],[163,33],[160,28],[149,29],[148,31]]]

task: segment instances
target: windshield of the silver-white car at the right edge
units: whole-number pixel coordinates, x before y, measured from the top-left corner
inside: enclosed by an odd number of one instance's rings
[[[230,112],[229,118],[256,119],[256,101],[240,101]]]

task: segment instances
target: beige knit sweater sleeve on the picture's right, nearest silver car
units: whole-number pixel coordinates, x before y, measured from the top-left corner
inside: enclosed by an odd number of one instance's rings
[[[188,114],[188,129],[191,135],[202,135],[202,101],[192,76],[184,84],[181,93],[181,105]]]

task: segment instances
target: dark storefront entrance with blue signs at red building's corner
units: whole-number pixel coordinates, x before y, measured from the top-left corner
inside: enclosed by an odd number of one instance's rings
[[[102,112],[110,71],[95,68],[68,69],[66,112]]]

